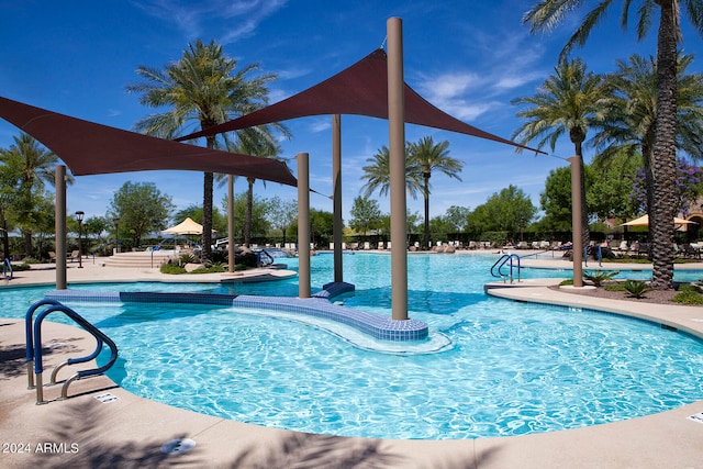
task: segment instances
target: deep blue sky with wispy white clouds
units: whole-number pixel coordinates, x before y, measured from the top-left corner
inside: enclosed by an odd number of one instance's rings
[[[403,21],[405,81],[433,104],[481,130],[510,138],[521,122],[510,101],[532,96],[554,72],[557,56],[579,22],[574,16],[550,35],[531,35],[521,22],[534,1],[395,1],[360,0],[140,0],[57,2],[0,0],[0,96],[32,105],[132,130],[154,112],[129,94],[125,86],[140,81],[141,65],[163,68],[178,60],[189,43],[215,40],[241,65],[258,63],[277,74],[270,102],[302,91],[356,63],[383,43],[391,16]],[[588,3],[588,2],[587,2]],[[637,43],[634,27],[620,29],[614,9],[596,26],[582,57],[596,72],[612,71],[616,59],[632,54],[656,54],[656,23],[646,41]],[[634,12],[633,12],[634,16]],[[656,19],[658,22],[658,18]],[[702,41],[684,24],[683,49],[703,51]],[[690,71],[702,71],[701,59]],[[293,134],[282,142],[284,158],[299,152],[311,157],[311,186],[332,193],[331,118],[286,122]],[[0,120],[0,147],[9,147],[19,130]],[[432,135],[449,141],[450,155],[465,163],[461,181],[433,175],[431,216],[450,205],[476,208],[493,193],[514,185],[538,206],[549,170],[567,163],[554,156],[516,154],[511,146],[406,125],[410,142]],[[361,167],[388,145],[387,121],[342,118],[344,211],[361,191]],[[568,157],[565,137],[554,152]],[[592,153],[587,149],[585,159]],[[295,172],[294,161],[291,168]],[[81,176],[68,188],[69,213],[103,215],[115,190],[125,181],[149,181],[179,208],[202,202],[202,176],[190,171],[147,171]],[[245,190],[238,178],[235,191]],[[295,198],[293,188],[256,183],[260,197]],[[219,205],[226,188],[217,189]],[[375,196],[387,212],[388,198]],[[312,206],[332,211],[332,201],[312,194]],[[409,198],[409,208],[422,213],[422,200]]]

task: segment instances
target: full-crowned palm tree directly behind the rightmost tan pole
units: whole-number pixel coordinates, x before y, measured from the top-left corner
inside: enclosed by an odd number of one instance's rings
[[[589,127],[600,119],[600,105],[606,96],[603,77],[588,71],[580,58],[559,62],[555,74],[545,80],[537,94],[512,101],[525,108],[517,112],[517,116],[525,121],[513,133],[513,138],[522,144],[539,138],[538,148],[549,144],[554,150],[558,138],[569,135],[581,165],[581,239],[583,246],[588,246],[591,236],[583,178],[583,142]],[[576,233],[573,235],[577,236]]]

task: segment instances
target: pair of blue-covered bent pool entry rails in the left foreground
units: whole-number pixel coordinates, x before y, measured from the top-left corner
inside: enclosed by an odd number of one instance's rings
[[[59,311],[64,314],[66,314],[68,317],[70,317],[71,320],[74,320],[76,323],[78,323],[78,325],[80,325],[83,330],[86,330],[88,333],[90,333],[94,338],[96,338],[96,349],[85,356],[85,357],[78,357],[78,358],[69,358],[65,364],[62,364],[60,366],[64,365],[75,365],[75,364],[82,364],[86,361],[90,361],[94,358],[98,357],[98,355],[100,355],[100,353],[102,351],[102,347],[104,344],[108,345],[108,347],[110,347],[110,359],[108,360],[108,362],[101,367],[98,368],[92,368],[92,369],[87,369],[87,370],[80,370],[78,372],[76,372],[76,375],[74,375],[71,378],[69,378],[66,383],[64,384],[64,388],[62,390],[62,398],[66,398],[66,393],[67,393],[67,388],[68,384],[70,384],[70,382],[72,382],[76,379],[81,379],[81,378],[88,378],[88,377],[92,377],[92,376],[98,376],[98,375],[102,375],[107,370],[109,370],[118,360],[118,346],[115,345],[115,343],[108,337],[102,331],[100,331],[99,328],[97,328],[94,325],[92,325],[90,322],[88,322],[83,316],[81,316],[80,314],[78,314],[77,312],[75,312],[74,310],[71,310],[68,306],[65,306],[64,304],[54,301],[54,300],[41,300],[37,303],[35,303],[34,305],[32,305],[30,308],[31,312],[27,312],[27,321],[30,321],[31,314],[34,313],[34,311],[36,311],[36,309],[43,304],[47,304],[48,303],[48,308],[44,309],[36,317],[36,320],[34,321],[34,325],[33,325],[33,338],[34,338],[34,375],[36,376],[36,403],[37,404],[42,404],[44,403],[43,400],[43,390],[42,390],[42,373],[44,372],[44,365],[43,365],[43,360],[42,360],[42,322],[44,321],[44,319],[46,319],[47,315],[49,315],[53,312]],[[29,339],[27,339],[29,340]],[[54,379],[55,377],[53,377]]]

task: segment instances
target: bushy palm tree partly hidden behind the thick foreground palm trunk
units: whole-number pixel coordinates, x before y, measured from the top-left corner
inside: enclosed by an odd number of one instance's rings
[[[703,157],[703,75],[688,74],[692,55],[678,56],[677,148],[694,159]],[[651,165],[657,120],[657,63],[639,55],[629,62],[616,62],[617,70],[606,77],[613,98],[607,105],[601,129],[593,137],[598,158],[607,161],[614,156],[643,155],[647,208],[654,206]]]

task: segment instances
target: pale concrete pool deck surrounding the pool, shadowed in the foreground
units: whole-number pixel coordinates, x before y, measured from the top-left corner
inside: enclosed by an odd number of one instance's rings
[[[523,261],[523,266],[565,269],[570,266],[561,259],[534,263],[538,265],[533,266],[529,260]],[[691,268],[703,269],[703,264],[694,266]],[[623,265],[615,268],[626,269]],[[16,272],[10,284],[52,283],[54,273],[53,270]],[[91,267],[90,264],[85,264],[83,269],[71,265],[67,277],[69,283],[164,280],[156,269]],[[198,277],[207,280],[202,275]],[[570,272],[565,272],[565,277],[570,277]],[[548,288],[558,281],[524,280],[513,286],[501,282],[494,284],[498,288],[491,289],[491,294],[516,301],[617,311],[703,336],[703,308],[603,300]],[[44,331],[44,342],[55,344],[49,348],[47,366],[60,362],[67,353],[75,356],[79,350],[91,351],[94,347],[88,334],[76,327],[46,323]],[[48,377],[44,381],[47,382]],[[49,387],[44,397],[53,400],[58,392],[56,387]],[[372,468],[457,469],[703,468],[703,424],[689,418],[703,412],[703,401],[612,424],[467,440],[345,438],[266,428],[138,398],[107,377],[71,384],[71,399],[35,405],[35,392],[27,390],[24,323],[19,320],[0,320],[0,394],[2,468],[336,468],[354,464]],[[105,394],[116,399],[105,399],[109,398]],[[163,454],[161,445],[176,438],[190,438],[197,446],[180,455]]]

